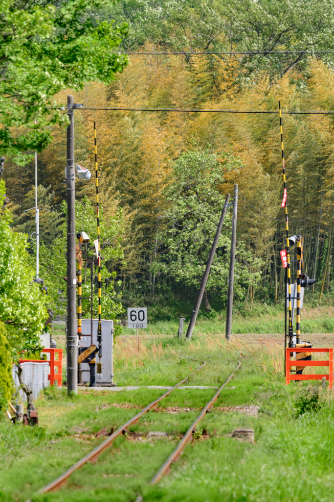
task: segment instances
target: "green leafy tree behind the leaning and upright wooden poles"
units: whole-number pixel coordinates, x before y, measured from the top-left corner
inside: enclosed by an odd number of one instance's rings
[[[164,273],[174,277],[176,282],[198,288],[209,257],[211,245],[217,230],[225,197],[221,195],[224,174],[242,167],[241,162],[226,154],[222,163],[215,154],[194,150],[182,154],[174,164],[174,181],[167,189],[171,208],[164,215],[166,230],[161,240]],[[219,237],[216,254],[206,290],[220,294],[227,291],[231,216],[227,212]],[[242,242],[236,249],[235,293],[243,297],[243,286],[250,274],[245,267],[246,260],[252,262],[251,254],[245,252]],[[159,265],[155,267],[158,269]],[[253,282],[260,278],[253,274]]]

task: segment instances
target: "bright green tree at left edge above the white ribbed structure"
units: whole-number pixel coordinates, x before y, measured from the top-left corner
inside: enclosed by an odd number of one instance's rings
[[[5,197],[5,183],[0,180],[0,200]],[[12,230],[11,213],[0,215],[0,320],[6,325],[13,355],[18,356],[39,344],[47,310],[45,294],[34,282],[30,265],[27,236]]]

